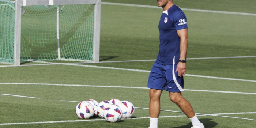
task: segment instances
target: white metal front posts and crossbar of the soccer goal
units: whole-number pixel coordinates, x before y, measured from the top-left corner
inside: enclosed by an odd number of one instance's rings
[[[99,61],[101,0],[15,0],[14,64],[20,65],[21,11],[22,6],[95,4],[93,61]]]

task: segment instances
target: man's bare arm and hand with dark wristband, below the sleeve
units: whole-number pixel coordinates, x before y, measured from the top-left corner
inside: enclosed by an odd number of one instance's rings
[[[180,37],[180,60],[186,60],[187,48],[188,48],[188,29],[181,29],[177,31]],[[177,65],[176,72],[178,76],[186,74],[186,63],[179,62]]]

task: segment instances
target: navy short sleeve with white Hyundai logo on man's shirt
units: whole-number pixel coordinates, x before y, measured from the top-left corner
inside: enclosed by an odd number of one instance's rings
[[[174,24],[176,30],[181,30],[181,29],[187,29],[187,18],[184,14],[184,12],[179,11],[174,15]]]

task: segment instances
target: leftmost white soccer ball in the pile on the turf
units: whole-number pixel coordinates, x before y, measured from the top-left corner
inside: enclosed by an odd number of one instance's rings
[[[94,114],[93,105],[91,103],[83,101],[76,105],[76,116],[80,119],[88,119]]]

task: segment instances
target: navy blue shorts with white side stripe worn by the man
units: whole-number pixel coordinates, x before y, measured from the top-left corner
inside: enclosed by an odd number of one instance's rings
[[[176,64],[162,65],[155,62],[148,77],[147,87],[169,92],[183,91],[183,76],[178,76],[176,68]]]

